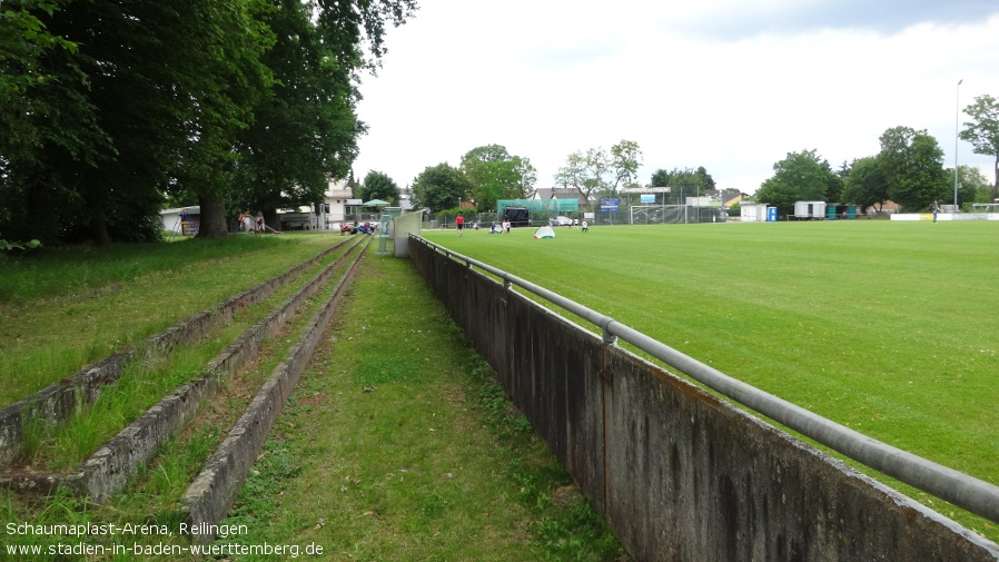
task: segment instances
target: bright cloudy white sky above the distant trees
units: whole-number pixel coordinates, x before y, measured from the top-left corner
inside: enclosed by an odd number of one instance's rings
[[[999,98],[996,0],[419,0],[363,75],[354,165],[399,187],[502,145],[537,169],[633,140],[639,180],[703,166],[754,193],[789,152],[833,169],[879,137],[927,130],[944,167],[992,156],[957,140],[975,97]],[[959,85],[958,82],[961,81]]]

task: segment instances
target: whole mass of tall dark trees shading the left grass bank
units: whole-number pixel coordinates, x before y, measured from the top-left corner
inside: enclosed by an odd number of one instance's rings
[[[324,199],[365,125],[360,73],[415,0],[7,0],[0,238],[155,240],[159,210]]]

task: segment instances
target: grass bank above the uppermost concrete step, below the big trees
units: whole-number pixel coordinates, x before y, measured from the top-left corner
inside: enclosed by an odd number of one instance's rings
[[[233,236],[41,249],[0,258],[0,406],[283,273],[339,239]]]

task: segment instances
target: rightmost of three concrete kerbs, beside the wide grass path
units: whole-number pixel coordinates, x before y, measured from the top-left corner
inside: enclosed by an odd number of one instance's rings
[[[366,249],[362,250],[362,256]],[[221,521],[233,506],[249,467],[256,461],[270,427],[311,358],[359,259],[358,257],[340,278],[330,299],[303,331],[299,342],[288,352],[288,357],[274,371],[181,499],[181,516],[188,529],[205,530],[204,533],[192,533],[194,540],[208,542],[215,539],[210,532],[211,525]]]

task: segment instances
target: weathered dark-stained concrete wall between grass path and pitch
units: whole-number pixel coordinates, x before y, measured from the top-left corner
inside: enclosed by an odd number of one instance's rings
[[[999,560],[999,548],[432,248],[411,258],[637,560]]]

